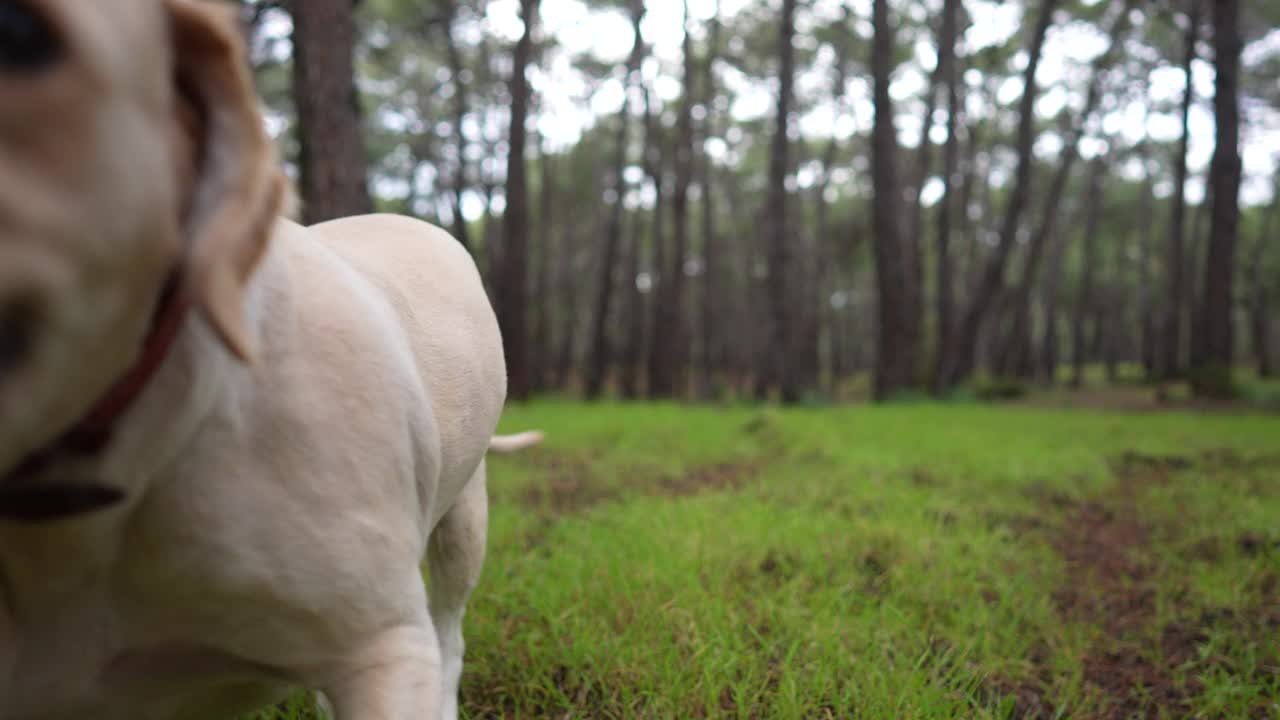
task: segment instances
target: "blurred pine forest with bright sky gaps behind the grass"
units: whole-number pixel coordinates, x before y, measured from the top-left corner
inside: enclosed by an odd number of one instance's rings
[[[1275,3],[244,15],[306,219],[449,228],[515,397],[890,398],[1096,364],[1224,395],[1275,372]]]

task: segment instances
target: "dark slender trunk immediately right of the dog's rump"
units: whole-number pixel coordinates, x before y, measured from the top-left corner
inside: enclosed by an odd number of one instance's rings
[[[529,191],[525,181],[525,120],[529,115],[529,69],[538,0],[522,0],[525,32],[516,42],[511,73],[511,128],[507,142],[507,209],[502,215],[502,282],[498,284],[498,325],[507,356],[507,396],[529,398]]]

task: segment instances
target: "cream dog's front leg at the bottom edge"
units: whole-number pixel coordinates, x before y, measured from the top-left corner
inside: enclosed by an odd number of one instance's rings
[[[370,638],[342,664],[328,688],[337,720],[436,720],[440,646],[431,621]]]

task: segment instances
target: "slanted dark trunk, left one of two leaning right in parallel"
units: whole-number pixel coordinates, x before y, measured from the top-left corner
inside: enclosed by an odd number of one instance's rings
[[[952,332],[951,340],[947,341],[947,348],[943,352],[943,372],[941,373],[940,382],[942,389],[955,386],[973,370],[978,334],[982,331],[983,320],[992,301],[1000,293],[1004,284],[1005,266],[1009,264],[1009,255],[1016,245],[1023,210],[1030,195],[1032,165],[1034,164],[1032,146],[1036,141],[1036,70],[1039,68],[1044,36],[1048,33],[1050,24],[1052,24],[1053,10],[1057,8],[1057,4],[1059,0],[1042,0],[1039,15],[1036,19],[1036,29],[1028,47],[1027,70],[1023,74],[1023,97],[1019,102],[1018,169],[1015,170],[1009,205],[1005,209],[1005,218],[1001,224],[1000,243],[988,260],[978,281],[978,286],[974,288],[961,322],[956,325],[955,332]]]

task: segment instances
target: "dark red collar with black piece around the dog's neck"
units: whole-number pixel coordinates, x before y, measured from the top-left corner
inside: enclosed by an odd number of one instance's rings
[[[156,302],[151,328],[137,361],[93,404],[70,429],[24,457],[0,477],[0,520],[40,523],[91,512],[124,498],[124,491],[93,482],[37,482],[51,468],[102,454],[116,425],[133,409],[164,365],[191,302],[182,274],[174,272]]]

